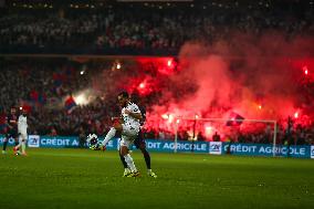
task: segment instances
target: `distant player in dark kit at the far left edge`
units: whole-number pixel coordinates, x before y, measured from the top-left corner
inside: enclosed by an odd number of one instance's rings
[[[18,139],[18,116],[17,116],[17,108],[11,107],[10,115],[7,117],[7,133],[6,137],[3,139],[3,149],[2,154],[7,154],[7,145],[9,142],[9,138],[14,138],[15,146],[19,145]]]

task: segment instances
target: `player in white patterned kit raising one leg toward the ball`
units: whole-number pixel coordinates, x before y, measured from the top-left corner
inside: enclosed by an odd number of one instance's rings
[[[129,177],[139,176],[135,167],[133,158],[129,155],[129,147],[133,145],[134,139],[137,137],[140,128],[140,119],[143,118],[138,106],[130,102],[128,93],[122,92],[118,94],[118,103],[122,106],[121,121],[114,124],[109,129],[102,145],[105,148],[106,144],[115,136],[116,132],[122,133],[119,151],[124,156],[125,161],[130,169]]]

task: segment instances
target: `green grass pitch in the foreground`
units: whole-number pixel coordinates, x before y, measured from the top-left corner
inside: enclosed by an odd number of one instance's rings
[[[0,208],[314,208],[314,160],[151,153],[157,179],[123,178],[117,151],[0,156]]]

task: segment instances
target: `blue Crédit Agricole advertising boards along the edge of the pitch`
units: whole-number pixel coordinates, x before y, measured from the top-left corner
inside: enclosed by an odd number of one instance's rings
[[[103,140],[103,138],[100,138]],[[3,135],[0,135],[0,145],[3,144]],[[14,139],[9,139],[9,145],[14,145]],[[29,147],[50,147],[65,148],[80,147],[78,137],[73,136],[38,136],[29,135]],[[87,145],[86,145],[87,147]],[[174,153],[174,140],[146,139],[146,147],[153,151]],[[118,139],[114,138],[107,144],[107,149],[118,149]],[[133,146],[133,149],[136,149]],[[178,153],[203,153],[213,155],[243,155],[243,156],[275,156],[314,158],[314,146],[286,146],[278,145],[273,150],[271,144],[240,144],[240,143],[221,143],[221,142],[177,142]]]

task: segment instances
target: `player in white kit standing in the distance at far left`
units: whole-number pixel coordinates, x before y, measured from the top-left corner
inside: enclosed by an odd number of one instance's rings
[[[22,115],[19,116],[18,121],[18,133],[19,133],[19,145],[14,146],[13,150],[17,151],[22,148],[22,155],[27,155],[27,142],[28,142],[28,116],[27,111],[22,109]],[[20,154],[19,151],[17,154]]]

